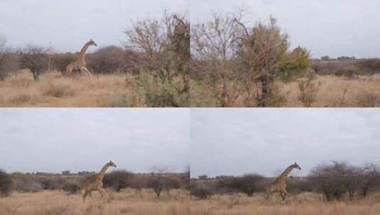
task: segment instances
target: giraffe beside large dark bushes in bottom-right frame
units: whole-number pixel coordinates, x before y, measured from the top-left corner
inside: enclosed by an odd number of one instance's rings
[[[276,178],[276,180],[266,189],[266,199],[269,198],[269,196],[275,192],[280,193],[281,198],[285,200],[286,196],[291,196],[291,194],[286,191],[286,178],[288,177],[289,173],[291,173],[291,170],[293,169],[300,170],[300,166],[297,163],[293,163],[292,165],[289,165],[286,170],[281,173],[280,176]]]

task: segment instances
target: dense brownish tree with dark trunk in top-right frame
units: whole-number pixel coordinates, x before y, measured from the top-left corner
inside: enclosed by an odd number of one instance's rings
[[[241,69],[246,71],[246,80],[261,83],[258,105],[271,106],[274,75],[288,50],[288,35],[281,32],[272,17],[268,25],[257,23],[251,28],[237,19],[234,21],[240,26],[238,54]]]

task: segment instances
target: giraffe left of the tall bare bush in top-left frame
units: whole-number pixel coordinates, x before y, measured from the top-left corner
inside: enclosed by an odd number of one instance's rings
[[[91,73],[86,68],[86,61],[85,61],[85,55],[88,47],[90,45],[97,46],[97,44],[94,42],[94,40],[89,40],[89,42],[86,42],[86,44],[82,47],[82,50],[80,52],[75,53],[75,58],[66,66],[65,75],[70,76],[72,74],[73,70],[80,70],[82,73],[87,74],[88,76],[91,76]]]

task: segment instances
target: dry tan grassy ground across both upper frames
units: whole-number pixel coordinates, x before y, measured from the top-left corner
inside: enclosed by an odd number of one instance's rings
[[[87,76],[63,77],[58,72],[40,75],[33,81],[31,73],[23,71],[0,81],[1,107],[148,107],[144,93],[137,89],[136,77],[131,74],[99,74],[91,79]],[[148,81],[146,81],[148,83]],[[311,107],[379,107],[380,74],[371,76],[317,75],[313,80],[316,87]],[[298,81],[276,81],[283,96],[283,107],[303,107],[300,102]],[[159,90],[157,90],[159,91]],[[235,107],[244,107],[239,95]],[[125,98],[134,98],[126,101]],[[254,105],[254,104],[253,104]],[[193,80],[190,85],[191,107],[217,107],[212,89],[201,81]]]

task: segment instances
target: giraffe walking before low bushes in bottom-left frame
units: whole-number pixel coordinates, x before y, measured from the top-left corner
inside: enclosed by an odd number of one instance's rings
[[[102,170],[100,170],[99,173],[94,175],[94,178],[91,178],[91,180],[87,180],[87,182],[85,182],[83,188],[83,190],[85,190],[85,194],[83,194],[83,202],[85,202],[87,195],[89,194],[89,196],[91,197],[91,192],[95,190],[98,191],[102,195],[102,197],[107,195],[107,193],[103,189],[103,177],[110,166],[116,168],[114,162],[109,161],[103,166]]]

